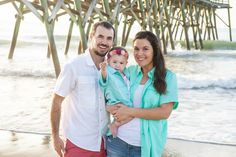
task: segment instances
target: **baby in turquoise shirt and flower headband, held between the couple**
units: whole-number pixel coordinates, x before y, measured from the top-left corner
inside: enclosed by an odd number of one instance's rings
[[[111,110],[111,105],[122,103],[127,106],[132,106],[130,100],[130,82],[129,73],[126,69],[129,54],[123,47],[114,47],[107,54],[107,63],[100,64],[101,78],[99,84],[104,92],[106,98],[107,110]],[[127,121],[113,121],[109,125],[109,129],[113,137],[117,136],[118,127]]]

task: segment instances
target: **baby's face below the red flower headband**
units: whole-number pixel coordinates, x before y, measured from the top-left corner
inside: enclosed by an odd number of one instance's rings
[[[108,64],[122,73],[127,65],[127,58],[123,55],[112,55],[108,59]]]

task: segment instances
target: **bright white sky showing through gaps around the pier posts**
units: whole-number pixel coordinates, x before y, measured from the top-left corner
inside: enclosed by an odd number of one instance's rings
[[[233,15],[236,15],[236,0],[230,0],[230,5],[232,6],[232,9],[230,9],[230,14],[231,14],[231,28],[236,29],[236,20],[233,19]],[[7,13],[8,16],[5,16]],[[15,24],[15,14],[16,11],[10,3],[0,5],[0,35],[6,32],[9,32],[12,35],[12,32],[14,30],[14,24]],[[217,9],[217,14],[224,20],[225,22],[228,23],[228,12],[227,9]],[[57,27],[55,28],[55,34],[67,34],[68,27],[69,27],[69,17],[64,17],[66,21],[61,19],[63,17],[60,17],[60,19],[57,22]],[[32,27],[32,20],[34,21],[34,26]],[[5,24],[5,27],[2,25]],[[218,18],[217,18],[217,28],[225,28],[228,30],[228,27],[225,26]],[[37,32],[34,30],[38,30]],[[73,29],[75,30],[75,34],[77,35],[78,29]],[[40,35],[44,35],[42,33],[45,32],[45,26],[35,17],[33,14],[26,14],[24,15],[24,20],[21,23],[20,26],[20,31],[24,32],[24,35],[30,35],[30,33],[39,33]],[[137,31],[135,28],[132,29],[132,31]],[[27,34],[28,33],[28,34]],[[131,32],[132,33],[132,32]],[[136,34],[133,33],[133,34]],[[132,36],[132,35],[131,35]]]

